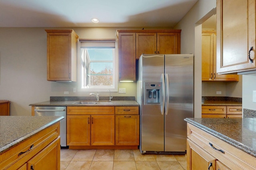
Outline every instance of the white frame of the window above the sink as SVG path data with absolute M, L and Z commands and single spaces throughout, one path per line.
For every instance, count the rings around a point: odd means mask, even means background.
M 82 57 L 81 57 L 81 47 L 110 47 L 114 43 L 114 59 L 113 59 L 113 86 L 93 86 L 90 88 L 83 88 L 82 84 L 84 82 L 84 74 L 82 68 Z M 110 46 L 108 46 L 110 45 Z M 77 60 L 77 91 L 78 92 L 106 92 L 110 89 L 111 92 L 118 91 L 118 48 L 115 39 L 79 39 L 78 41 L 78 60 Z

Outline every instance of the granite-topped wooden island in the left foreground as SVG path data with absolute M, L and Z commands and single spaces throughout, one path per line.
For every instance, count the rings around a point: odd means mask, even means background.
M 59 136 L 63 118 L 0 116 L 1 169 L 60 169 Z

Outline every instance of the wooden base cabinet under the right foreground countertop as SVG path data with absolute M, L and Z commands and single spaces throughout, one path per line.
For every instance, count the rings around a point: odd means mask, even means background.
M 256 158 L 187 123 L 187 170 L 253 170 Z

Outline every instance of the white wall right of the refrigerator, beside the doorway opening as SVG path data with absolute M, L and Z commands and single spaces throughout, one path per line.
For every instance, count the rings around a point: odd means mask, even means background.
M 174 27 L 182 29 L 181 53 L 194 54 L 194 117 L 201 117 L 202 106 L 202 23 L 214 14 L 216 0 L 198 0 L 186 16 Z

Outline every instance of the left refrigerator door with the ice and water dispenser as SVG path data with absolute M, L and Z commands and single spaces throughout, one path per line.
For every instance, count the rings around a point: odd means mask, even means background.
M 164 114 L 162 114 L 162 73 L 164 72 L 164 55 L 142 55 L 139 61 L 139 82 L 141 81 L 141 102 L 140 102 L 140 149 L 141 151 L 164 151 Z M 155 83 L 154 83 L 155 82 Z M 145 87 L 144 85 L 147 85 Z M 152 86 L 150 85 L 152 84 Z M 147 88 L 154 88 L 158 84 L 158 104 L 146 102 L 146 98 L 154 98 L 154 91 Z M 150 94 L 145 94 L 145 92 Z

